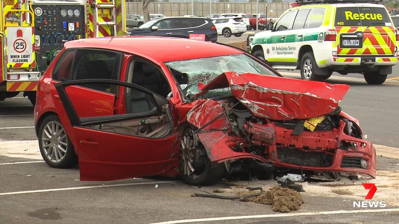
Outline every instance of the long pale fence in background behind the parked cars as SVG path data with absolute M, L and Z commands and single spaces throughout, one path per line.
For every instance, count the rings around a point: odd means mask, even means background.
M 259 3 L 259 13 L 271 17 L 279 17 L 289 8 L 288 3 Z M 150 14 L 164 14 L 165 16 L 209 15 L 209 2 L 150 2 Z M 256 3 L 246 2 L 214 2 L 212 14 L 216 13 L 256 13 Z M 126 2 L 127 14 L 143 14 L 141 2 Z

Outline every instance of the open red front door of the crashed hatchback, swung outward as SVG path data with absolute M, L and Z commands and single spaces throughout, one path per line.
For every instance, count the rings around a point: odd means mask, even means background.
M 73 102 L 68 91 L 77 85 L 124 89 L 126 96 L 130 96 L 123 100 L 127 112 L 107 116 L 79 115 L 76 110 L 79 102 Z M 178 134 L 168 116 L 172 114 L 169 102 L 163 96 L 137 84 L 107 79 L 68 81 L 54 86 L 72 127 L 70 140 L 79 152 L 82 181 L 152 176 L 169 171 L 177 163 L 174 157 L 178 153 Z M 91 98 L 102 100 L 95 95 Z

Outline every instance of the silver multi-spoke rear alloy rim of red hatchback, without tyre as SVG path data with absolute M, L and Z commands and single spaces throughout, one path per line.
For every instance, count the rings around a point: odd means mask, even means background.
M 65 130 L 59 122 L 47 122 L 41 133 L 41 145 L 47 159 L 59 163 L 65 157 L 68 146 L 67 138 Z

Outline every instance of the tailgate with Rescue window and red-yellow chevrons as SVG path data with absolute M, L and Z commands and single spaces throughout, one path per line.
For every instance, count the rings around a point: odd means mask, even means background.
M 334 22 L 338 55 L 394 55 L 395 27 L 384 7 L 343 6 L 336 8 Z

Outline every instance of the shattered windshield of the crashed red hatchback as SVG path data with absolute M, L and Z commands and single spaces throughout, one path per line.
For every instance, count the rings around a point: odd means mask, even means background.
M 267 67 L 245 54 L 170 61 L 165 63 L 165 65 L 171 69 L 183 93 L 190 99 L 193 99 L 195 94 L 199 92 L 198 83 L 208 84 L 224 72 L 277 76 Z M 226 96 L 231 96 L 230 88 L 209 90 L 203 95 L 204 98 L 222 98 Z

